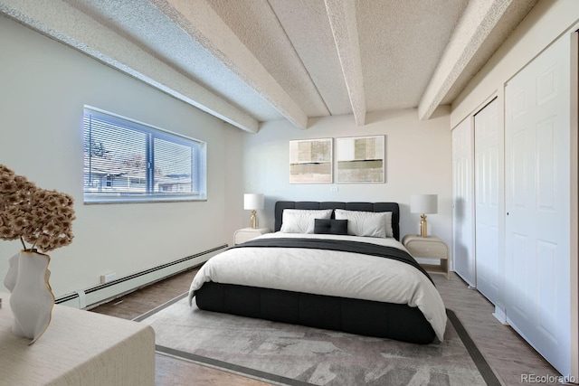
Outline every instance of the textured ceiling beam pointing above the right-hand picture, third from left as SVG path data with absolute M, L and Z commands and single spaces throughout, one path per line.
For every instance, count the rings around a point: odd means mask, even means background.
M 356 125 L 364 126 L 365 89 L 356 25 L 356 3 L 348 0 L 325 0 L 325 3 Z

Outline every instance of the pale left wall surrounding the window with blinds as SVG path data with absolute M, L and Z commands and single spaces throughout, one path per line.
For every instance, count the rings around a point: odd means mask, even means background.
M 231 242 L 226 181 L 242 168 L 228 141 L 239 129 L 2 16 L 0 52 L 0 164 L 75 199 L 75 238 L 50 253 L 56 297 Z M 84 205 L 85 104 L 206 141 L 207 201 Z M 19 249 L 0 242 L 0 278 Z

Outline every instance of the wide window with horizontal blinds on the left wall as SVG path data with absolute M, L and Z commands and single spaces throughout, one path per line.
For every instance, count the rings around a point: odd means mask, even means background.
M 206 144 L 84 108 L 84 202 L 206 199 Z

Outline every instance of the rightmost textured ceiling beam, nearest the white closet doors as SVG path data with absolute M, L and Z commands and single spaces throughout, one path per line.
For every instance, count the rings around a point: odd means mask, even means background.
M 513 0 L 470 1 L 451 41 L 442 53 L 431 81 L 418 104 L 418 118 L 428 119 L 441 104 L 482 43 Z

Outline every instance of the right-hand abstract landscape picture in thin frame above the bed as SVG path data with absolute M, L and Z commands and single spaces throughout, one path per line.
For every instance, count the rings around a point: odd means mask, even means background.
M 336 183 L 384 183 L 385 155 L 385 136 L 336 138 Z

